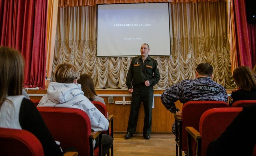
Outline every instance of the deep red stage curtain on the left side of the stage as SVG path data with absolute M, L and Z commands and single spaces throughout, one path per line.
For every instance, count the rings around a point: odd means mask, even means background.
M 25 59 L 23 87 L 44 89 L 47 0 L 0 0 L 0 45 Z

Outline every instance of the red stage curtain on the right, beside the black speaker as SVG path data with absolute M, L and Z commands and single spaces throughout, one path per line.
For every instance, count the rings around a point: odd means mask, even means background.
M 256 24 L 247 23 L 245 0 L 234 0 L 238 66 L 256 64 Z

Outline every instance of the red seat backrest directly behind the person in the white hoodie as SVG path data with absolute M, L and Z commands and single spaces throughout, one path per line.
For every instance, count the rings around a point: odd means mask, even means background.
M 74 147 L 80 156 L 90 155 L 91 121 L 81 109 L 37 107 L 54 140 L 60 147 Z

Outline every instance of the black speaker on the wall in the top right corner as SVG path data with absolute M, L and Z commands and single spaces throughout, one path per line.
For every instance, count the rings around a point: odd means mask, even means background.
M 245 0 L 248 23 L 256 23 L 256 0 Z

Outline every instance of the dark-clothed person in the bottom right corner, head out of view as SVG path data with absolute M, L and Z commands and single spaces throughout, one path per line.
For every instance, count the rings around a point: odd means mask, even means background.
M 256 105 L 244 107 L 219 138 L 212 141 L 206 156 L 252 156 L 256 145 Z

